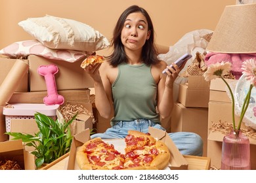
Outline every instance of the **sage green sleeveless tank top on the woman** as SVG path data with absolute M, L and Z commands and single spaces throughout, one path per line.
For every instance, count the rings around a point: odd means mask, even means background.
M 116 81 L 112 84 L 114 99 L 114 118 L 117 121 L 133 121 L 136 119 L 152 120 L 160 124 L 156 112 L 157 85 L 151 74 L 151 67 L 141 65 L 118 66 Z

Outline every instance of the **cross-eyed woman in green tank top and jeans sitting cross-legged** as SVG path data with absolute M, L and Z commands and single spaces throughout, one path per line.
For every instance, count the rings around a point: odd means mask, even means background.
M 130 129 L 148 132 L 161 127 L 160 116 L 167 118 L 173 109 L 173 82 L 181 69 L 167 66 L 157 57 L 154 27 L 148 12 L 133 5 L 117 20 L 111 45 L 114 51 L 102 64 L 85 71 L 94 80 L 95 105 L 104 118 L 114 118 L 105 133 L 91 138 L 125 138 Z M 162 71 L 166 70 L 167 75 Z M 165 129 L 163 129 L 165 130 Z M 169 133 L 182 154 L 202 156 L 202 139 L 195 133 Z

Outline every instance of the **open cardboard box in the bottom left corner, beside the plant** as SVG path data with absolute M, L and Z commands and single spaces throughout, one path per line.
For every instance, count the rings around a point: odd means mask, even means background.
M 26 169 L 22 140 L 0 142 L 0 159 L 16 161 L 23 170 Z

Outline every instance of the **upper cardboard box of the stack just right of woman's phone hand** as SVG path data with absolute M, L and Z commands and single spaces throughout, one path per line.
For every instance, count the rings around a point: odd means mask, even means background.
M 179 86 L 179 99 L 185 107 L 208 107 L 209 82 L 203 76 L 188 76 L 186 84 Z

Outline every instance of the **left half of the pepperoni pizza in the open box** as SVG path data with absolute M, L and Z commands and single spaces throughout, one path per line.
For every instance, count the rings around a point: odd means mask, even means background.
M 77 150 L 77 165 L 82 170 L 114 170 L 123 169 L 125 158 L 115 150 L 113 144 L 102 139 L 91 139 Z

